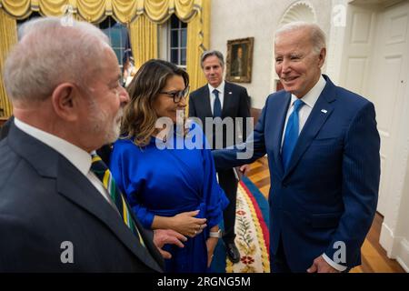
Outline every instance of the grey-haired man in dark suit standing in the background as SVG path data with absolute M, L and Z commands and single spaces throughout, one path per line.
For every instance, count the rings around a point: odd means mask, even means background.
M 243 86 L 224 81 L 222 53 L 215 50 L 206 51 L 201 57 L 201 65 L 208 84 L 190 95 L 189 116 L 200 118 L 205 127 L 205 135 L 209 143 L 213 145 L 212 148 L 233 146 L 235 143 L 243 142 L 248 132 L 246 118 L 250 117 L 250 100 L 247 90 Z M 209 120 L 215 117 L 221 119 L 214 119 L 214 123 L 209 123 Z M 236 124 L 236 117 L 243 119 Z M 206 118 L 211 119 L 207 119 L 206 123 Z M 230 130 L 227 129 L 227 126 L 222 125 L 222 121 L 226 121 L 226 118 L 232 118 L 231 125 L 233 126 Z M 237 263 L 240 260 L 240 253 L 234 244 L 234 222 L 238 181 L 232 169 L 220 170 L 217 176 L 220 186 L 230 201 L 223 213 L 224 245 L 229 259 Z

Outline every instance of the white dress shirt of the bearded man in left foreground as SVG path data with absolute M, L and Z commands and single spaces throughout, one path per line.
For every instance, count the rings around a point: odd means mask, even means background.
M 80 171 L 86 178 L 95 186 L 99 193 L 104 196 L 105 200 L 113 206 L 111 198 L 108 192 L 103 186 L 101 180 L 91 171 L 92 158 L 91 154 L 85 152 L 85 150 L 68 143 L 66 140 L 46 133 L 45 131 L 38 129 L 32 125 L 27 125 L 23 121 L 15 117 L 15 126 L 20 130 L 24 131 L 25 134 L 33 136 L 40 142 L 47 146 L 53 148 L 60 155 L 65 156 L 65 158 L 75 166 L 78 171 Z M 113 206 L 114 207 L 114 206 Z M 116 206 L 114 207 L 116 210 Z

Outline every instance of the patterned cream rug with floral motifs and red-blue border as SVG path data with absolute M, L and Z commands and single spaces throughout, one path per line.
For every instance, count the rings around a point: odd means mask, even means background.
M 214 250 L 211 272 L 214 273 L 268 273 L 268 202 L 246 177 L 237 189 L 235 215 L 235 245 L 240 251 L 240 262 L 232 264 L 226 257 L 223 239 Z M 223 224 L 223 223 L 222 223 Z M 223 225 L 221 226 L 223 228 Z

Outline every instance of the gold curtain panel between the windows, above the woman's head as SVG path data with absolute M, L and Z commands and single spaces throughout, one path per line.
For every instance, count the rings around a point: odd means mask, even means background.
M 135 67 L 157 58 L 157 25 L 145 15 L 140 15 L 129 25 L 129 38 L 134 52 Z

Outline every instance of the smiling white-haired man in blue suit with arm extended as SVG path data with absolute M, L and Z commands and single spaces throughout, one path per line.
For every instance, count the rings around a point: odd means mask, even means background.
M 267 97 L 247 140 L 254 156 L 237 159 L 237 148 L 214 151 L 215 166 L 268 155 L 273 272 L 349 271 L 361 264 L 377 204 L 374 105 L 321 74 L 326 48 L 318 25 L 284 25 L 276 32 L 274 54 L 284 90 Z

